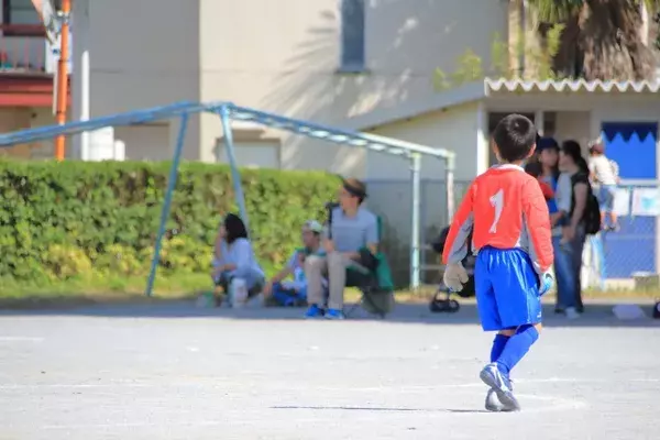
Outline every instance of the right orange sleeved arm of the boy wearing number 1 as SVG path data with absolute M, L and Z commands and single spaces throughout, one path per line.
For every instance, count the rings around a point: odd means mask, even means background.
M 554 260 L 550 213 L 541 188 L 535 182 L 527 183 L 522 188 L 522 216 L 529 233 L 531 261 L 538 273 L 546 273 Z

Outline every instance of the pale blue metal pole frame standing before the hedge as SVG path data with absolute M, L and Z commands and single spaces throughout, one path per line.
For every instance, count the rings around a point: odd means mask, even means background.
M 178 167 L 188 130 L 188 119 L 191 113 L 209 112 L 217 114 L 224 132 L 224 146 L 229 161 L 232 185 L 234 188 L 235 201 L 239 206 L 240 215 L 248 228 L 249 217 L 245 209 L 245 199 L 243 187 L 241 185 L 241 175 L 239 164 L 235 158 L 233 142 L 232 121 L 244 121 L 261 124 L 302 135 L 306 138 L 318 139 L 329 143 L 349 145 L 367 151 L 374 151 L 398 157 L 407 157 L 410 161 L 411 179 L 411 206 L 410 206 L 410 288 L 418 288 L 420 285 L 420 254 L 421 254 L 421 160 L 424 156 L 433 157 L 444 162 L 444 178 L 447 187 L 447 211 L 448 218 L 453 217 L 454 212 L 454 164 L 455 153 L 446 148 L 438 148 L 428 145 L 420 145 L 411 142 L 400 141 L 392 138 L 385 138 L 371 133 L 362 133 L 339 128 L 326 127 L 309 121 L 287 118 L 280 114 L 255 110 L 246 107 L 235 106 L 231 102 L 178 102 L 170 106 L 156 107 L 145 110 L 135 110 L 125 113 L 119 113 L 110 117 L 95 118 L 87 121 L 69 122 L 63 125 L 48 125 L 37 129 L 22 130 L 13 133 L 0 135 L 0 147 L 8 147 L 19 143 L 28 143 L 52 139 L 58 135 L 73 135 L 88 131 L 103 129 L 106 127 L 132 125 L 147 123 L 164 119 L 180 119 L 177 133 L 165 200 L 161 211 L 161 220 L 154 245 L 154 255 L 152 258 L 150 275 L 147 279 L 146 296 L 151 296 L 155 283 L 158 263 L 161 261 L 162 241 L 165 234 L 167 219 L 172 207 L 172 197 L 176 188 L 178 177 Z

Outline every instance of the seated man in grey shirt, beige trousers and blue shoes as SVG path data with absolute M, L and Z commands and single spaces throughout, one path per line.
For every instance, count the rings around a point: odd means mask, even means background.
M 343 319 L 343 290 L 346 267 L 359 265 L 360 249 L 373 254 L 378 248 L 378 221 L 376 216 L 362 206 L 366 198 L 364 183 L 349 178 L 338 194 L 339 207 L 332 209 L 332 221 L 323 240 L 326 255 L 310 255 L 305 261 L 307 277 L 306 318 L 326 317 Z M 324 310 L 323 277 L 327 275 L 330 295 Z

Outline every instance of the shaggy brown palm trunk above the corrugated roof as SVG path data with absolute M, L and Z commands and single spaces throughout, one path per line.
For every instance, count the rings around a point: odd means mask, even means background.
M 554 58 L 558 74 L 587 80 L 656 77 L 659 66 L 656 37 L 648 38 L 640 30 L 645 29 L 642 7 L 646 6 L 648 21 L 654 26 L 660 0 L 528 0 L 528 3 L 546 26 L 565 25 Z

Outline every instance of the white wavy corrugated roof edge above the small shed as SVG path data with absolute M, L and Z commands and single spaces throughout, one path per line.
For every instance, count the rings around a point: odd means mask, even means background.
M 562 80 L 524 80 L 493 79 L 484 81 L 488 92 L 619 92 L 619 94 L 657 94 L 660 81 L 586 81 L 584 79 Z

